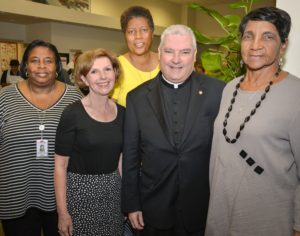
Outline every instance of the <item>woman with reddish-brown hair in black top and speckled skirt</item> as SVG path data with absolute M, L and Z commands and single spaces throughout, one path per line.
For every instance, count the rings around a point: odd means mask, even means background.
M 89 94 L 61 117 L 55 148 L 55 192 L 61 235 L 122 234 L 120 208 L 124 109 L 109 98 L 119 75 L 104 49 L 83 53 L 75 78 Z

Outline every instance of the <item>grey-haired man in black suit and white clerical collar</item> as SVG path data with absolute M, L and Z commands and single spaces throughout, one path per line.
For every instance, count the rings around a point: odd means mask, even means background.
M 204 235 L 209 157 L 224 83 L 194 71 L 192 30 L 161 35 L 161 72 L 127 96 L 122 210 L 141 236 Z

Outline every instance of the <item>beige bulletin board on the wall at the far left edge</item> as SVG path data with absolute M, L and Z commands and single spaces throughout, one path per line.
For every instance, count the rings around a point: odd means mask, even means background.
M 9 68 L 11 59 L 18 58 L 17 43 L 0 42 L 0 72 Z

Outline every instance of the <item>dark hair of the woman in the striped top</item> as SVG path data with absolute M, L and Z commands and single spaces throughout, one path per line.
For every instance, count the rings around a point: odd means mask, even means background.
M 20 72 L 21 72 L 21 76 L 22 78 L 26 79 L 26 72 L 27 72 L 27 64 L 28 64 L 28 58 L 29 55 L 31 53 L 31 51 L 36 48 L 36 47 L 45 47 L 48 48 L 50 51 L 52 51 L 54 53 L 54 58 L 55 58 L 55 66 L 56 66 L 56 73 L 59 75 L 61 70 L 62 70 L 62 64 L 61 64 L 61 60 L 60 60 L 60 56 L 58 53 L 57 48 L 48 42 L 45 42 L 43 40 L 33 40 L 26 48 L 24 54 L 23 54 L 23 58 L 22 58 L 22 62 L 20 65 Z

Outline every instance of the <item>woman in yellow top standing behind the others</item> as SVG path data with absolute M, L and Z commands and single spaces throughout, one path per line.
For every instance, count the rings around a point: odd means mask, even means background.
M 128 52 L 118 57 L 122 73 L 112 98 L 125 107 L 127 93 L 158 74 L 159 61 L 157 53 L 151 51 L 154 23 L 150 11 L 130 7 L 122 13 L 120 22 Z

